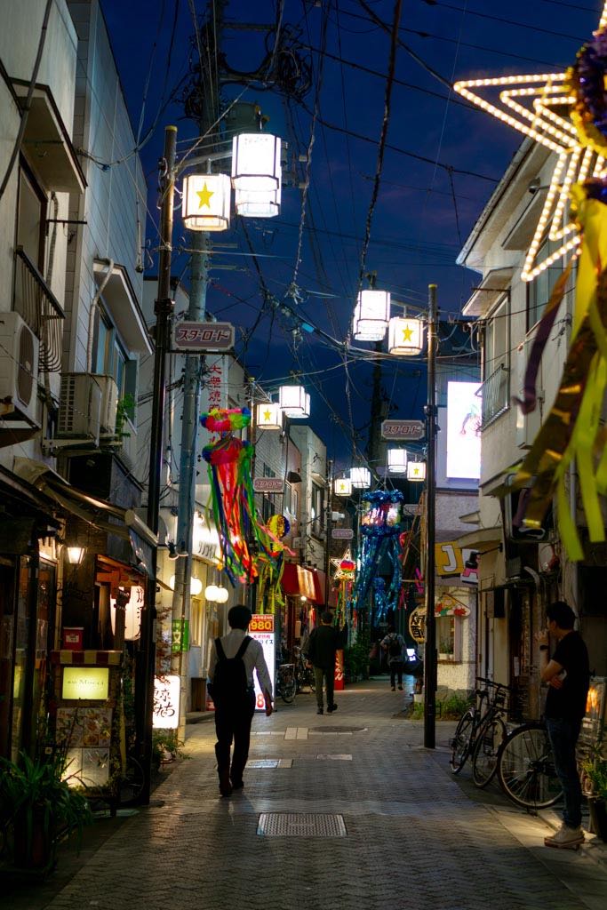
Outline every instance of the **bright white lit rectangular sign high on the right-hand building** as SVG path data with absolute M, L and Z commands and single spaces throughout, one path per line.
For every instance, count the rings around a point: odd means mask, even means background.
M 447 477 L 481 477 L 481 398 L 478 382 L 447 383 Z

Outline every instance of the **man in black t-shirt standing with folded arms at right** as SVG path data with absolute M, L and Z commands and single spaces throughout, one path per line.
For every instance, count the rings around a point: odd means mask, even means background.
M 582 844 L 582 786 L 575 762 L 575 744 L 586 713 L 590 684 L 588 650 L 579 632 L 573 631 L 575 613 L 568 603 L 556 601 L 546 611 L 548 628 L 538 636 L 541 681 L 549 685 L 544 715 L 554 767 L 565 800 L 561 828 L 544 838 L 549 847 Z M 549 633 L 557 646 L 549 660 Z

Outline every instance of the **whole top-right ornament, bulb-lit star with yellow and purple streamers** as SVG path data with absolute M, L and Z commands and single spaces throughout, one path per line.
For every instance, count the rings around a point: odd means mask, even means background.
M 521 274 L 531 280 L 568 251 L 579 253 L 572 340 L 560 388 L 521 467 L 509 486 L 530 488 L 523 524 L 539 528 L 556 493 L 561 539 L 572 561 L 583 557 L 565 489 L 565 474 L 576 460 L 591 542 L 605 540 L 600 495 L 607 492 L 607 449 L 600 424 L 607 388 L 607 3 L 598 30 L 565 73 L 508 76 L 460 82 L 461 95 L 557 154 L 551 186 Z M 498 103 L 484 94 L 501 88 Z M 474 91 L 472 91 L 474 89 Z M 512 111 L 512 116 L 509 111 Z M 572 197 L 572 206 L 568 200 Z M 568 215 L 568 209 L 569 215 Z M 560 241 L 550 256 L 537 254 L 549 227 Z M 520 402 L 536 406 L 535 379 L 541 354 L 571 271 L 555 285 L 531 348 Z

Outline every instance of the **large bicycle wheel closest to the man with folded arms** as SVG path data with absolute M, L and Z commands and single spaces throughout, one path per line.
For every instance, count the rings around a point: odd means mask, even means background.
M 524 809 L 543 809 L 561 796 L 551 744 L 543 723 L 523 723 L 501 746 L 498 779 L 503 792 Z

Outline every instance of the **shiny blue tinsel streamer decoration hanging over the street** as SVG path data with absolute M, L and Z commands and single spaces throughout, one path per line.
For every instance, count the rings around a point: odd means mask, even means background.
M 386 587 L 376 586 L 371 606 L 376 619 L 382 619 L 387 612 L 395 610 L 400 593 L 400 521 L 403 495 L 399 490 L 376 490 L 363 493 L 363 513 L 360 519 L 362 547 L 360 570 L 354 585 L 353 600 L 360 606 L 365 602 L 371 585 L 379 580 L 379 563 L 387 559 L 391 566 L 391 578 Z M 379 581 L 384 581 L 380 579 Z

